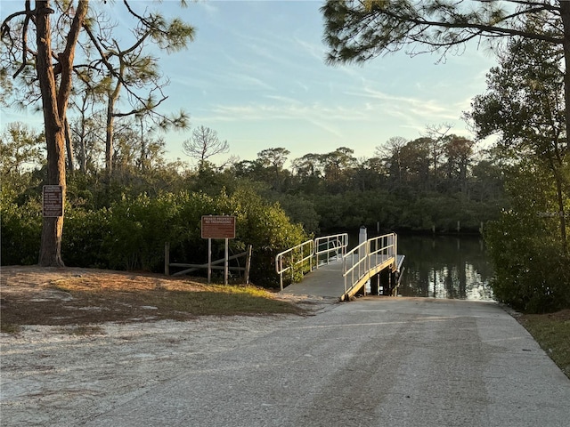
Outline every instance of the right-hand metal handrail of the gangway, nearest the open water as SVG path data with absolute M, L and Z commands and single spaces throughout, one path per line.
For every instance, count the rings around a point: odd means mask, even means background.
M 380 262 L 390 257 L 394 257 L 394 262 L 396 262 L 397 241 L 395 233 L 370 238 L 354 247 L 343 257 L 342 275 L 345 278 L 345 295 Z

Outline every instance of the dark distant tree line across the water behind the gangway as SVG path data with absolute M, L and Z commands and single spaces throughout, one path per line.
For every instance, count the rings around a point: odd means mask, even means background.
M 390 138 L 376 157 L 354 157 L 340 147 L 310 153 L 283 167 L 289 151 L 265 149 L 253 161 L 224 171 L 263 184 L 306 230 L 358 229 L 476 232 L 504 205 L 502 173 L 491 156 L 476 155 L 473 142 L 454 134 L 407 141 Z M 310 217 L 306 215 L 310 214 Z

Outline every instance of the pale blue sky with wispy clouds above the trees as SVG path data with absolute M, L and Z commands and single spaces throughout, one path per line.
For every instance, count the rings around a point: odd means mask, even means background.
M 3 0 L 0 18 L 22 3 Z M 271 148 L 288 149 L 289 161 L 339 147 L 369 158 L 390 137 L 413 140 L 427 125 L 444 123 L 472 138 L 461 115 L 485 93 L 485 74 L 496 65 L 475 44 L 444 62 L 435 54 L 395 52 L 362 65 L 327 65 L 322 1 L 199 0 L 187 8 L 175 0 L 132 3 L 141 11 L 160 8 L 196 28 L 187 50 L 157 52 L 170 79 L 161 109 L 184 109 L 191 129 L 208 126 L 228 141 L 230 152 L 212 157 L 214 163 L 230 156 L 254 160 Z M 1 128 L 16 120 L 41 126 L 41 114 L 32 109 L 1 114 Z M 191 160 L 182 149 L 191 129 L 163 135 L 167 158 Z

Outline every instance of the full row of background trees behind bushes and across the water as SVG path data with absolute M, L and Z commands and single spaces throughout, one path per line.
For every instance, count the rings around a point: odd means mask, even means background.
M 340 147 L 292 159 L 289 167 L 289 150 L 284 148 L 264 149 L 253 160 L 231 157 L 223 165 L 215 165 L 206 153 L 210 142 L 212 149 L 219 149 L 217 134 L 199 126 L 192 135 L 193 141 L 199 141 L 194 146 L 200 148 L 188 150 L 196 160 L 191 166 L 182 161 L 168 162 L 163 139 L 156 139 L 152 133 L 141 137 L 135 124 L 125 121 L 114 136 L 118 141 L 114 180 L 104 180 L 102 144 L 97 143 L 97 133 L 90 133 L 94 138 L 85 150 L 87 167 L 69 172 L 71 204 L 80 196 L 82 203 L 97 209 L 108 207 L 122 194 L 190 190 L 215 195 L 222 189 L 231 193 L 246 185 L 279 202 L 292 221 L 302 223 L 307 232 L 320 234 L 362 225 L 375 229 L 377 222 L 382 230 L 423 232 L 435 227 L 436 232 L 456 232 L 460 221 L 461 230 L 476 232 L 481 222 L 497 217 L 505 202 L 501 165 L 493 160 L 493 154 L 476 152 L 473 141 L 449 133 L 449 126 L 429 128 L 436 137 L 412 141 L 390 138 L 376 147 L 376 157 L 359 159 L 353 149 Z M 198 133 L 201 140 L 196 138 Z M 6 150 L 4 182 L 18 187 L 16 182 L 25 181 L 24 176 L 31 174 L 37 181 L 28 181 L 29 185 L 44 184 L 41 136 L 14 123 L 2 138 Z M 184 146 L 190 147 L 191 141 Z M 227 151 L 227 142 L 224 144 Z M 23 157 L 26 155 L 27 159 Z

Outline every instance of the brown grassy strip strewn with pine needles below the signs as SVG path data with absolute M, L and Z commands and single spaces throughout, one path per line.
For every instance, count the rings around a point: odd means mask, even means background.
M 21 294 L 6 294 L 5 299 L 2 320 L 6 331 L 15 331 L 19 325 L 74 326 L 64 331 L 69 334 L 99 334 L 93 325 L 102 322 L 306 312 L 256 286 L 207 285 L 188 278 L 111 272 L 53 279 L 22 288 Z

